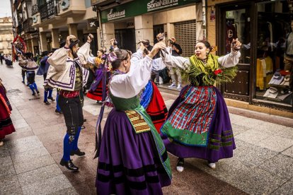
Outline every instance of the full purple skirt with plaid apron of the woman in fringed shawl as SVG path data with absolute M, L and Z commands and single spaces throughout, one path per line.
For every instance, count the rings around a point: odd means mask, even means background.
M 226 103 L 213 86 L 185 86 L 169 110 L 161 137 L 168 152 L 179 158 L 217 162 L 231 158 L 236 148 Z

